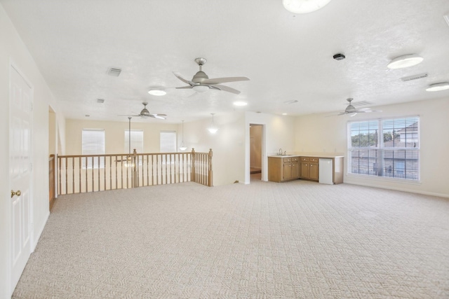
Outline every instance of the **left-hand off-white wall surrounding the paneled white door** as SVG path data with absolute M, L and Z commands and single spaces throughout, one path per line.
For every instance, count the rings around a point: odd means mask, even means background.
M 34 248 L 47 221 L 48 211 L 48 106 L 56 112 L 58 127 L 64 127 L 64 116 L 41 76 L 33 57 L 13 27 L 0 4 L 0 298 L 11 296 L 11 188 L 9 183 L 9 71 L 13 64 L 33 89 L 32 120 L 32 246 Z M 64 136 L 60 139 L 64 142 Z

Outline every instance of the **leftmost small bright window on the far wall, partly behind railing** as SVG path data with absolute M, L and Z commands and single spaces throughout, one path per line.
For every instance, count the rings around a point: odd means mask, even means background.
M 82 132 L 82 148 L 83 155 L 104 155 L 105 154 L 105 130 L 102 129 L 83 129 Z M 87 160 L 87 163 L 86 163 Z M 83 159 L 83 169 L 105 167 L 105 157 L 100 157 L 100 165 L 98 158 Z M 93 165 L 92 165 L 93 163 Z

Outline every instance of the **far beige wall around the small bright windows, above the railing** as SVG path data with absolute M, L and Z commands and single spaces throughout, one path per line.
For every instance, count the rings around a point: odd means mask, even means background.
M 99 120 L 67 119 L 65 135 L 67 136 L 67 155 L 81 155 L 81 132 L 83 129 L 105 130 L 105 151 L 111 153 L 128 153 L 125 151 L 125 131 L 129 123 Z M 159 153 L 159 135 L 161 131 L 177 131 L 178 125 L 163 123 L 134 123 L 131 119 L 131 130 L 143 130 L 143 146 L 145 153 Z M 131 148 L 133 151 L 133 148 Z

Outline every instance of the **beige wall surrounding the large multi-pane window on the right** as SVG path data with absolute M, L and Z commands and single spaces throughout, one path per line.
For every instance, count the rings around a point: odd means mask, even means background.
M 298 152 L 344 153 L 347 157 L 347 122 L 403 116 L 420 116 L 420 183 L 398 182 L 388 179 L 361 178 L 347 175 L 345 159 L 344 183 L 375 186 L 415 193 L 449 197 L 449 98 L 378 106 L 382 113 L 360 113 L 326 117 L 310 115 L 297 117 L 295 148 Z

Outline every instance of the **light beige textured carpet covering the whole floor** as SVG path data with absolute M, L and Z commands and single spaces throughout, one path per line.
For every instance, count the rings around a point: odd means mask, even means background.
M 65 195 L 13 298 L 449 298 L 449 200 L 258 180 Z

